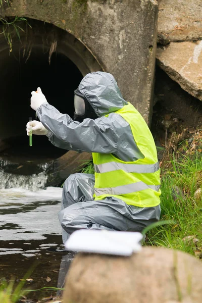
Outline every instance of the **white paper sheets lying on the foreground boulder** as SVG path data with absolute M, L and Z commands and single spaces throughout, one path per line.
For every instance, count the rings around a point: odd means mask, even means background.
M 87 230 L 73 232 L 65 243 L 65 249 L 118 256 L 131 256 L 141 250 L 139 232 Z

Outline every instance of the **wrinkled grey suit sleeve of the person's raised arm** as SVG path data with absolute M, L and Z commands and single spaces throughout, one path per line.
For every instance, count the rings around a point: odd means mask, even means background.
M 49 140 L 57 147 L 88 153 L 116 154 L 116 131 L 108 117 L 84 119 L 79 123 L 49 104 L 42 104 L 37 110 L 37 116 L 52 133 Z

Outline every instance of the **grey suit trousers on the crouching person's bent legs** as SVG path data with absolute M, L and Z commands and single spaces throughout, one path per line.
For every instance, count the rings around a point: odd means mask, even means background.
M 72 232 L 81 228 L 141 232 L 160 219 L 160 206 L 140 208 L 115 197 L 93 200 L 93 186 L 91 174 L 75 174 L 66 180 L 59 213 L 64 243 Z

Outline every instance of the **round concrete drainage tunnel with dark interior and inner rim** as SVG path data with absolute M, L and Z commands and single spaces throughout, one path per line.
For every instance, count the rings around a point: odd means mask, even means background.
M 80 158 L 89 156 L 70 152 L 68 157 L 67 150 L 55 147 L 44 136 L 33 136 L 33 145 L 29 146 L 26 123 L 29 117 L 35 120 L 31 91 L 40 86 L 49 104 L 73 117 L 74 90 L 85 74 L 101 69 L 85 46 L 68 32 L 36 20 L 29 20 L 29 24 L 31 29 L 28 34 L 22 33 L 21 42 L 14 40 L 12 52 L 7 41 L 1 40 L 0 166 L 8 173 L 30 175 L 40 173 L 45 163 L 54 163 L 55 171 L 52 167 L 46 185 L 59 185 Z M 65 162 L 76 162 L 73 166 L 66 163 L 64 175 L 58 177 L 61 157 Z

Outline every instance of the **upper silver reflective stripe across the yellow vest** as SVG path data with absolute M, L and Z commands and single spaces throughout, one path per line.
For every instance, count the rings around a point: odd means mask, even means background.
M 155 164 L 128 164 L 118 162 L 94 164 L 96 173 L 108 173 L 120 169 L 127 173 L 155 173 L 159 170 L 159 162 Z

